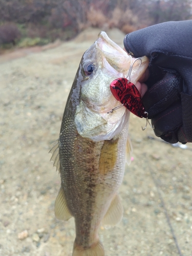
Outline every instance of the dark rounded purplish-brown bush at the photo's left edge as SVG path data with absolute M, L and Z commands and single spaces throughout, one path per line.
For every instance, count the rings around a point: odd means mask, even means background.
M 0 26 L 0 44 L 15 45 L 15 40 L 20 37 L 20 32 L 16 25 L 7 23 Z

